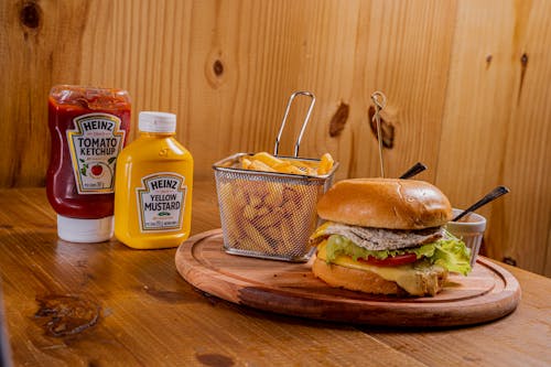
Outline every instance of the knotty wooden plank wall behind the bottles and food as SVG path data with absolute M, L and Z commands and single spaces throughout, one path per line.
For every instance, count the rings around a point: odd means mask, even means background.
M 128 89 L 132 139 L 138 111 L 177 114 L 198 179 L 230 153 L 271 151 L 298 89 L 317 97 L 301 155 L 331 152 L 338 179 L 377 176 L 369 108 L 382 90 L 387 176 L 422 161 L 419 177 L 457 207 L 507 185 L 479 211 L 486 253 L 551 276 L 549 15 L 547 0 L 6 0 L 0 186 L 44 185 L 55 84 Z

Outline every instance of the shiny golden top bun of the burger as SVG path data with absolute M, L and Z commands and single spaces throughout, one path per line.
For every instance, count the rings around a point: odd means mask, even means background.
M 317 203 L 320 217 L 347 225 L 422 229 L 452 219 L 447 197 L 424 181 L 352 179 L 337 182 Z

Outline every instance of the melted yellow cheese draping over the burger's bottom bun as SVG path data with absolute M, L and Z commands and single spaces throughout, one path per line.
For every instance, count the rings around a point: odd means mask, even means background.
M 327 260 L 326 241 L 317 246 L 317 258 Z M 440 266 L 419 266 L 415 262 L 398 267 L 377 267 L 369 263 L 355 261 L 346 255 L 341 255 L 332 261 L 337 266 L 371 271 L 388 281 L 398 283 L 408 293 L 413 295 L 435 294 L 439 287 L 439 276 L 446 273 L 446 270 Z

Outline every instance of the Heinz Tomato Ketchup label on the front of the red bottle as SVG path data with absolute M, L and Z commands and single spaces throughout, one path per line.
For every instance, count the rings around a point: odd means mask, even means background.
M 109 114 L 88 114 L 73 121 L 75 129 L 67 130 L 67 143 L 78 193 L 115 192 L 115 165 L 125 141 L 120 119 Z

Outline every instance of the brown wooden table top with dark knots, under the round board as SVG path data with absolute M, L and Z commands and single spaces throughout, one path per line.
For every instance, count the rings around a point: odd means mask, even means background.
M 0 190 L 0 278 L 15 366 L 551 364 L 551 280 L 503 263 L 522 299 L 501 320 L 437 331 L 329 323 L 204 294 L 177 273 L 176 249 L 62 241 L 43 188 Z M 193 234 L 218 227 L 214 182 L 196 182 Z M 60 322 L 54 309 L 71 317 Z M 75 327 L 83 320 L 91 326 Z

